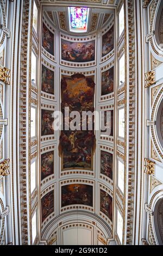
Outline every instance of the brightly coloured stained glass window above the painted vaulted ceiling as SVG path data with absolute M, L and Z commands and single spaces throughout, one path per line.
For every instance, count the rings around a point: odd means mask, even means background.
M 71 32 L 87 32 L 89 8 L 68 7 L 68 15 Z

